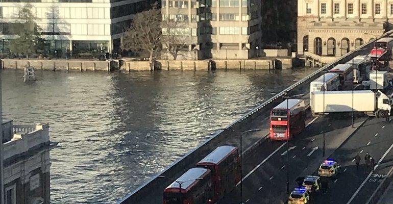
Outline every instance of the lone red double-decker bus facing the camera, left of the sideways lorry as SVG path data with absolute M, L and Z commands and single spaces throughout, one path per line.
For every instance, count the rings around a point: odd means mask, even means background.
M 289 140 L 306 126 L 306 106 L 302 99 L 286 99 L 270 114 L 270 139 Z

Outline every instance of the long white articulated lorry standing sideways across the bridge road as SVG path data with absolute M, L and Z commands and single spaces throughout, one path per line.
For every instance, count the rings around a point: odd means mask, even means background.
M 387 117 L 390 115 L 391 100 L 381 91 L 314 91 L 310 101 L 314 115 L 329 113 L 363 112 L 369 116 Z M 353 107 L 353 109 L 352 109 Z

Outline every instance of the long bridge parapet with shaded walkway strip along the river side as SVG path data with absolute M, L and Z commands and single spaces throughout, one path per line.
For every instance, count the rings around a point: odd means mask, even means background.
M 393 31 L 383 34 L 383 36 L 390 35 L 390 33 L 393 33 Z M 262 103 L 261 105 L 254 108 L 247 114 L 243 115 L 238 120 L 228 125 L 226 127 L 227 130 L 219 131 L 217 134 L 215 134 L 214 136 L 212 136 L 211 138 L 200 144 L 198 147 L 195 147 L 193 150 L 188 152 L 177 162 L 171 164 L 169 167 L 164 169 L 161 173 L 153 177 L 153 179 L 151 179 L 149 182 L 143 184 L 135 191 L 133 191 L 131 194 L 129 194 L 122 200 L 118 201 L 118 203 L 135 204 L 138 203 L 141 199 L 145 198 L 146 196 L 149 196 L 150 193 L 152 192 L 152 189 L 165 188 L 167 185 L 169 185 L 170 181 L 165 179 L 164 180 L 160 179 L 158 178 L 158 176 L 163 175 L 169 178 L 169 177 L 177 177 L 179 173 L 184 173 L 189 168 L 190 165 L 194 165 L 196 161 L 199 161 L 204 156 L 206 156 L 210 151 L 212 151 L 217 146 L 217 144 L 226 140 L 226 138 L 231 134 L 228 130 L 230 131 L 242 130 L 244 124 L 249 123 L 250 121 L 255 119 L 258 115 L 262 113 L 266 113 L 266 111 L 267 112 L 270 111 L 272 108 L 274 108 L 279 103 L 284 101 L 284 98 L 282 96 L 284 96 L 285 94 L 292 95 L 294 93 L 297 93 L 297 91 L 299 92 L 300 90 L 306 88 L 306 86 L 309 86 L 309 83 L 311 81 L 315 80 L 317 77 L 320 77 L 323 71 L 329 70 L 337 64 L 348 62 L 353 57 L 359 55 L 359 50 L 361 49 L 364 48 L 371 49 L 374 45 L 374 41 L 375 40 L 372 40 L 367 44 L 358 47 L 357 50 L 355 50 L 354 52 L 350 52 L 340 57 L 336 61 L 327 64 L 326 66 L 316 70 L 315 72 L 311 73 L 310 75 L 300 80 L 299 82 L 289 86 L 288 88 L 281 91 L 277 95 L 265 100 L 264 103 Z

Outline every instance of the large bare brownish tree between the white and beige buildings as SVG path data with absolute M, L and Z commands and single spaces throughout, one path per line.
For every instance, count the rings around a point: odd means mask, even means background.
M 122 49 L 136 53 L 149 52 L 150 60 L 161 47 L 161 12 L 157 3 L 147 11 L 137 13 L 130 28 L 122 36 Z

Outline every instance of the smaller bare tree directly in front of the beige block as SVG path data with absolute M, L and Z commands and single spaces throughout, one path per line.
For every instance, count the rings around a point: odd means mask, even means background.
M 165 28 L 165 33 L 162 35 L 162 44 L 166 48 L 174 60 L 177 59 L 180 52 L 186 49 L 188 50 L 188 38 L 191 33 L 191 29 L 187 28 L 187 24 L 183 22 L 174 21 L 163 21 L 162 27 Z M 189 50 L 188 50 L 189 51 Z

